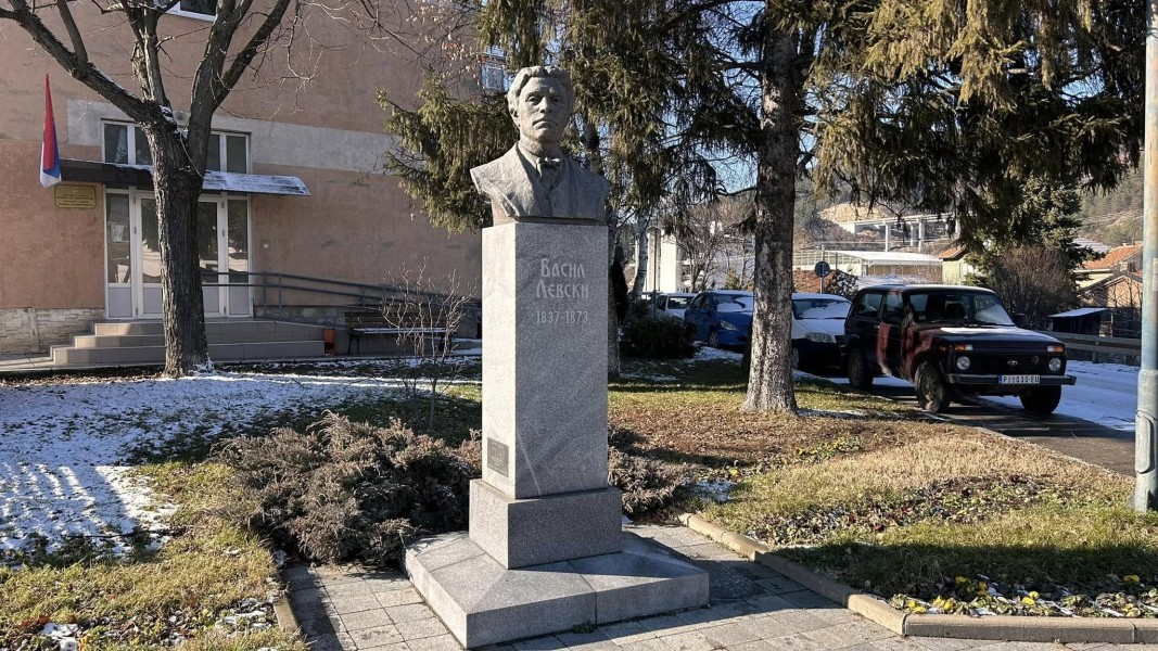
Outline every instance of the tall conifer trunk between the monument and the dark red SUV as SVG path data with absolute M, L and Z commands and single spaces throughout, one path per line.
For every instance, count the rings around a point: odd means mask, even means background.
M 770 2 L 769 2 L 770 3 Z M 771 12 L 769 7 L 769 12 Z M 802 80 L 797 37 L 765 27 L 756 168 L 755 309 L 746 411 L 792 411 L 792 219 Z

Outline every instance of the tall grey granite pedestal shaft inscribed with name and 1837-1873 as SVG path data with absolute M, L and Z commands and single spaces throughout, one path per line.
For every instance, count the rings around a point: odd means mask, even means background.
M 483 481 L 607 488 L 607 227 L 483 231 Z

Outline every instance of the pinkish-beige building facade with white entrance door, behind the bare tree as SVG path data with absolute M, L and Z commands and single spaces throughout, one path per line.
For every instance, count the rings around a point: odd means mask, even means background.
M 74 6 L 91 60 L 123 87 L 138 88 L 129 74 L 127 28 L 90 5 Z M 167 90 L 178 123 L 189 109 L 189 80 L 208 19 L 186 13 L 161 22 L 174 36 L 166 46 Z M 262 316 L 276 300 L 273 291 L 252 285 L 272 287 L 290 277 L 393 285 L 422 268 L 435 284 L 453 273 L 461 286 L 477 287 L 478 235 L 432 228 L 397 180 L 380 173 L 391 140 L 375 94 L 412 102 L 425 61 L 415 50 L 373 46 L 324 16 L 308 16 L 306 27 L 308 39 L 274 49 L 213 120 L 210 169 L 218 174 L 207 175 L 215 182 L 207 181 L 198 212 L 203 278 L 218 281 L 206 288 L 206 316 Z M 3 28 L 0 353 L 46 351 L 102 320 L 159 319 L 155 204 L 147 168 L 140 167 L 148 163 L 144 139 L 24 32 Z M 49 189 L 37 174 L 45 74 L 64 161 L 63 183 Z M 299 316 L 320 315 L 310 308 L 347 298 L 280 294 L 281 307 Z

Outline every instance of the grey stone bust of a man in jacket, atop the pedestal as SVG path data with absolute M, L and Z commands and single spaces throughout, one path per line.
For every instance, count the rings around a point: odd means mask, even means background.
M 520 218 L 606 220 L 607 180 L 560 148 L 574 108 L 571 76 L 554 66 L 522 68 L 507 92 L 519 141 L 498 159 L 470 170 L 491 200 L 494 224 Z

